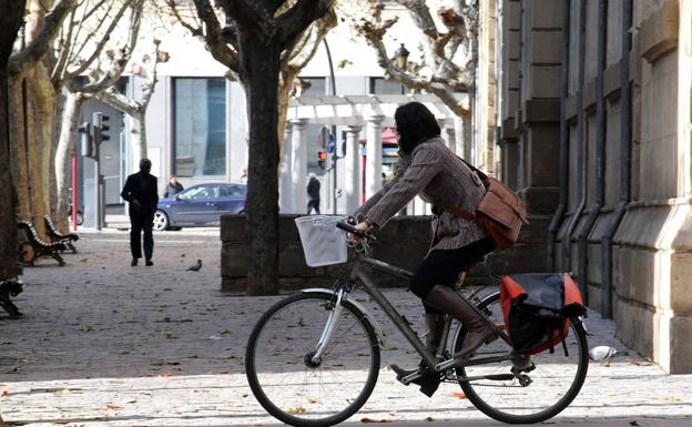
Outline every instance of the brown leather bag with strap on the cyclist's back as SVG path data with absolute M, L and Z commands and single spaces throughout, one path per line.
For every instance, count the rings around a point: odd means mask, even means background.
M 475 212 L 459 206 L 441 206 L 445 211 L 472 221 L 480 225 L 495 242 L 498 250 L 512 246 L 519 238 L 522 224 L 528 224 L 523 201 L 509 187 L 498 180 L 459 157 L 471 171 L 475 171 L 486 187 L 486 195 L 481 199 Z

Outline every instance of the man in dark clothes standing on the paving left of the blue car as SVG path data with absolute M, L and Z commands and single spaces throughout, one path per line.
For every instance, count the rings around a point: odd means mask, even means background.
M 140 161 L 140 172 L 128 176 L 125 186 L 120 195 L 130 203 L 130 251 L 132 252 L 132 263 L 138 265 L 142 257 L 141 235 L 144 232 L 144 257 L 146 265 L 154 265 L 152 255 L 154 253 L 154 212 L 159 203 L 159 192 L 156 176 L 151 173 L 151 160 Z

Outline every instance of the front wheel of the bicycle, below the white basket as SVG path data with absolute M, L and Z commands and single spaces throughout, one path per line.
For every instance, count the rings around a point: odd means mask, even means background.
M 322 427 L 354 415 L 373 393 L 379 345 L 365 313 L 349 302 L 326 352 L 313 360 L 335 301 L 299 293 L 269 308 L 247 343 L 245 372 L 253 394 L 274 417 L 293 426 Z

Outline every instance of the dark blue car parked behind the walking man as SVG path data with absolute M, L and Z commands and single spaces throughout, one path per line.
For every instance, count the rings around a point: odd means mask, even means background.
M 161 199 L 154 214 L 154 230 L 218 226 L 221 214 L 244 213 L 247 185 L 197 184 Z

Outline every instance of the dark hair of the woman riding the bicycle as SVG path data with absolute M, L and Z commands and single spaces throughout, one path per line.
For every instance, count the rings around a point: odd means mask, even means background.
M 421 142 L 440 134 L 435 114 L 420 102 L 409 102 L 399 106 L 394 113 L 394 120 L 400 136 L 399 146 L 407 154 Z

